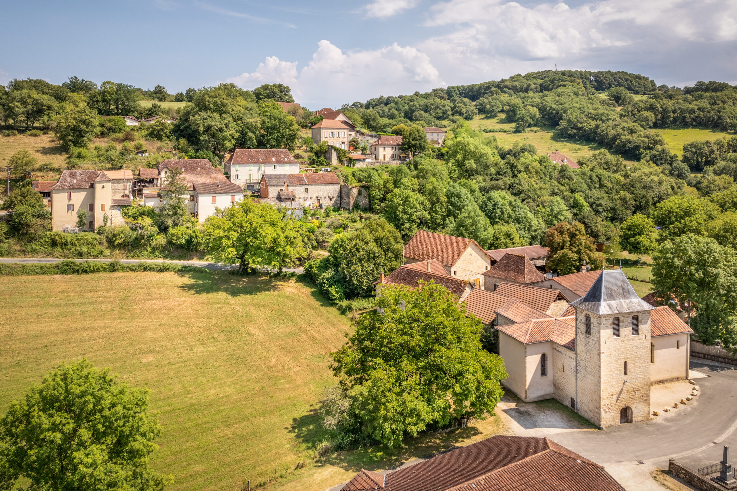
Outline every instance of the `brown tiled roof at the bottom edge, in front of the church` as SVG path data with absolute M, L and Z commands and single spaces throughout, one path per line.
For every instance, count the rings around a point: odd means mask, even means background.
M 497 435 L 388 473 L 361 470 L 340 491 L 624 491 L 599 464 L 547 438 Z

